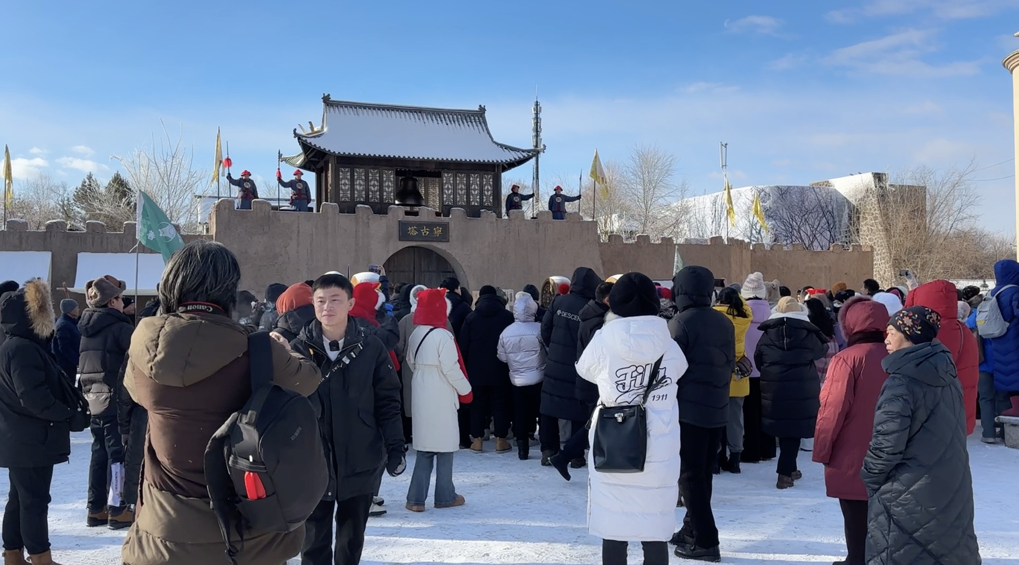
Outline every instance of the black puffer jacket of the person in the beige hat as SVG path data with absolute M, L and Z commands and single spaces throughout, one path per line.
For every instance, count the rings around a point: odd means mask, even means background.
M 761 322 L 753 354 L 761 373 L 761 429 L 775 438 L 813 438 L 821 407 L 814 361 L 824 357 L 828 341 L 805 319 L 779 316 Z

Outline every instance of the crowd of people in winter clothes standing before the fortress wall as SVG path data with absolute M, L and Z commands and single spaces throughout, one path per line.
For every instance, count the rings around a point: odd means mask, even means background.
M 331 271 L 259 301 L 228 249 L 197 241 L 137 313 L 112 275 L 89 281 L 86 309 L 61 301 L 59 316 L 45 281 L 4 282 L 4 565 L 55 563 L 53 468 L 84 427 L 86 524 L 129 528 L 125 565 L 358 563 L 369 518 L 385 513 L 383 476 L 405 472 L 409 450 L 406 509 L 425 512 L 433 472 L 433 508 L 467 503 L 454 454 L 486 443 L 525 461 L 537 448 L 566 480 L 590 468 L 588 530 L 606 565 L 626 563 L 629 542 L 649 565 L 668 562 L 669 543 L 720 561 L 713 475 L 775 460 L 775 486 L 791 489 L 801 457 L 823 464 L 839 500 L 840 563 L 978 563 L 966 436 L 979 414 L 981 440 L 998 443 L 996 416 L 1019 413 L 1019 263 L 996 274 L 985 296 L 912 276 L 794 293 L 759 272 L 727 286 L 687 266 L 664 288 L 580 267 L 542 301 L 531 285 L 475 298 L 455 278 L 390 288 Z M 272 340 L 250 350 L 259 329 Z M 266 398 L 256 358 L 314 411 L 309 461 L 327 467 L 322 484 L 299 486 L 324 492 L 285 528 L 258 526 L 269 522 L 255 503 L 276 491 L 254 456 L 225 463 L 239 469 L 225 509 L 212 494 L 216 430 Z M 646 441 L 624 441 L 634 432 Z

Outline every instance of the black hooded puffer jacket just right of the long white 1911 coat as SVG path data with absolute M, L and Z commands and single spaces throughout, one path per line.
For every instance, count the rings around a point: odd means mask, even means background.
M 736 368 L 736 328 L 726 314 L 711 308 L 714 274 L 684 267 L 673 278 L 677 314 L 668 330 L 690 368 L 680 379 L 680 421 L 701 427 L 729 422 L 729 383 Z

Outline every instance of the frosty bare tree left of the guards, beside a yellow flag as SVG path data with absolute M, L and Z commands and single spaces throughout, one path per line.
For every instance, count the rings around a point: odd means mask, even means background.
M 163 135 L 158 143 L 155 135 L 151 147 L 140 147 L 128 155 L 114 155 L 123 167 L 124 175 L 135 191 L 144 191 L 162 208 L 170 221 L 185 233 L 198 228 L 198 199 L 195 194 L 206 173 L 192 168 L 193 148 L 183 146 L 183 126 L 176 141 L 170 138 L 160 120 Z

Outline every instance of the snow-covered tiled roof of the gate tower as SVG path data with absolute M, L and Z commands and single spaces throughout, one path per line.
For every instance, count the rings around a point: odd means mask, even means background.
M 365 104 L 323 98 L 322 130 L 293 136 L 302 144 L 359 157 L 524 164 L 533 149 L 496 142 L 485 110 Z M 294 156 L 297 157 L 297 156 Z M 287 162 L 290 162 L 289 160 Z

